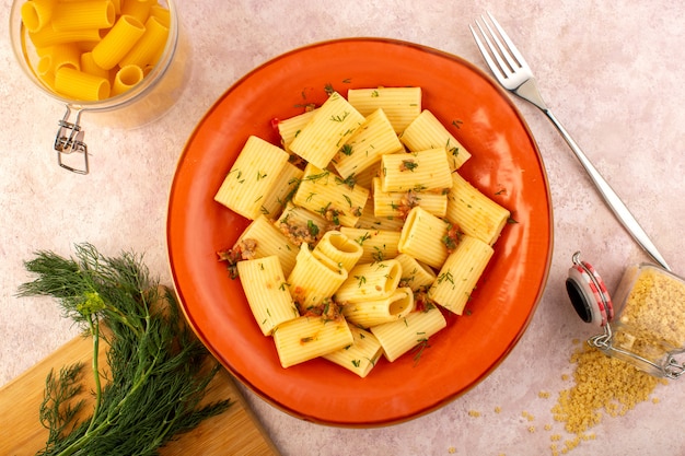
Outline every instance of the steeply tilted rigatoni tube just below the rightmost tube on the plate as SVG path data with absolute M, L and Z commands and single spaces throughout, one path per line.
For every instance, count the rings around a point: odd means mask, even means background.
M 448 311 L 462 315 L 492 254 L 492 247 L 483 241 L 462 236 L 428 290 L 428 296 Z

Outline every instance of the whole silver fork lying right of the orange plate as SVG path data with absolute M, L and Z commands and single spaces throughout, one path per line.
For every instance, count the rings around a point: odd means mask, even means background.
M 495 26 L 490 26 L 485 16 L 480 17 L 480 22 L 476 20 L 476 26 L 478 32 L 469 25 L 471 33 L 474 35 L 476 45 L 483 54 L 485 61 L 495 74 L 497 81 L 509 92 L 520 96 L 526 102 L 537 106 L 546 116 L 552 120 L 557 128 L 561 137 L 566 140 L 571 151 L 576 154 L 580 164 L 585 172 L 590 175 L 590 178 L 596 186 L 600 195 L 604 198 L 606 204 L 614 212 L 614 215 L 624 225 L 628 233 L 635 238 L 635 241 L 647 252 L 657 262 L 663 266 L 666 270 L 671 270 L 666 261 L 663 259 L 654 244 L 651 242 L 645 230 L 640 226 L 635 217 L 630 213 L 626 204 L 620 200 L 618 195 L 612 189 L 606 179 L 602 177 L 600 172 L 594 167 L 585 154 L 580 150 L 576 141 L 568 133 L 566 128 L 559 122 L 559 120 L 552 114 L 543 97 L 537 90 L 537 83 L 531 67 L 525 62 L 525 59 L 516 49 L 512 40 L 509 38 L 503 28 L 499 25 L 497 20 L 487 13 L 490 23 Z M 483 36 L 483 39 L 480 39 Z

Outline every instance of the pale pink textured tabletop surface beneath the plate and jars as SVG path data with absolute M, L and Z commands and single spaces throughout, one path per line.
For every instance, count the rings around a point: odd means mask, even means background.
M 174 108 L 142 129 L 88 125 L 89 176 L 55 163 L 51 142 L 59 104 L 21 72 L 7 26 L 0 37 L 0 384 L 11 381 L 77 332 L 49 300 L 18 299 L 27 280 L 22 261 L 36 249 L 69 255 L 91 242 L 105 254 L 144 253 L 171 283 L 164 225 L 175 164 L 195 124 L 221 93 L 255 66 L 313 42 L 383 36 L 460 55 L 483 67 L 467 25 L 486 9 L 534 67 L 553 110 L 628 203 L 671 267 L 685 273 L 685 7 L 666 0 L 599 4 L 590 0 L 520 2 L 302 1 L 182 2 L 190 79 Z M 227 8 L 228 4 L 228 8 Z M 2 0 L 0 22 L 9 21 Z M 550 408 L 571 384 L 573 339 L 594 334 L 576 315 L 564 280 L 573 252 L 613 290 L 625 265 L 647 259 L 615 221 L 552 125 L 516 102 L 547 166 L 555 210 L 555 253 L 543 301 L 522 340 L 483 383 L 428 416 L 404 424 L 348 430 L 291 418 L 246 391 L 285 455 L 544 455 L 564 434 Z M 475 311 L 477 312 L 477 309 Z M 685 381 L 660 386 L 643 402 L 593 429 L 596 440 L 570 454 L 685 454 Z M 538 397 L 539 391 L 550 398 Z M 495 409 L 501 408 L 496 413 Z M 473 417 L 469 411 L 479 411 Z M 530 422 L 522 412 L 534 416 Z M 552 424 L 553 430 L 544 429 Z M 529 426 L 535 425 L 535 432 Z

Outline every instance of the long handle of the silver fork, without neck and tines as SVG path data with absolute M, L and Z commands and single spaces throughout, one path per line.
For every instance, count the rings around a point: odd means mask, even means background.
M 665 259 L 661 256 L 657 246 L 651 242 L 642 226 L 638 223 L 638 221 L 632 217 L 628 207 L 622 201 L 616 191 L 612 188 L 611 185 L 602 177 L 600 172 L 594 167 L 592 162 L 585 156 L 582 150 L 578 147 L 573 138 L 566 131 L 566 128 L 559 122 L 559 120 L 552 114 L 552 112 L 547 108 L 542 108 L 543 113 L 552 120 L 554 126 L 557 128 L 564 140 L 567 142 L 576 157 L 580 161 L 580 164 L 583 166 L 588 175 L 596 186 L 600 195 L 604 198 L 606 204 L 614 212 L 614 215 L 618 219 L 618 221 L 625 226 L 625 229 L 630 233 L 630 235 L 635 238 L 635 241 L 647 252 L 657 262 L 659 262 L 666 270 L 671 270 Z

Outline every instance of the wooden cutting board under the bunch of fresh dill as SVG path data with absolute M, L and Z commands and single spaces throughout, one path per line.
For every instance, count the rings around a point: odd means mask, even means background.
M 103 346 L 106 344 L 101 343 Z M 51 369 L 58 372 L 62 366 L 79 361 L 86 367 L 90 366 L 92 350 L 91 338 L 77 337 L 0 388 L 0 455 L 33 455 L 45 447 L 48 432 L 38 420 L 45 378 Z M 104 348 L 101 353 L 104 353 Z M 101 360 L 104 359 L 102 355 Z M 86 374 L 84 377 L 91 376 Z M 278 449 L 249 410 L 231 375 L 221 370 L 210 384 L 207 400 L 227 398 L 233 402 L 228 411 L 204 421 L 194 431 L 182 434 L 178 440 L 161 448 L 160 454 L 279 456 Z

